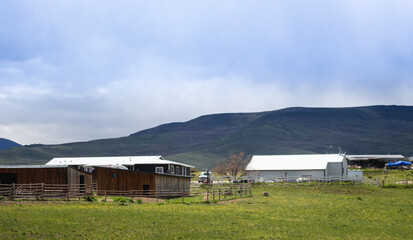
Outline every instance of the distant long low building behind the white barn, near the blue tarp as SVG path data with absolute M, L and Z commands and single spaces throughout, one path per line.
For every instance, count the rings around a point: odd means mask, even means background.
M 384 168 L 386 163 L 405 159 L 403 155 L 346 155 L 348 164 L 353 168 Z

